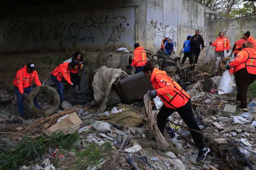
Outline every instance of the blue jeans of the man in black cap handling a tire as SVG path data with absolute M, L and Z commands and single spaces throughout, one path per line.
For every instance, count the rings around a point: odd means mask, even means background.
M 16 87 L 15 85 L 14 85 L 13 87 L 14 87 L 14 92 L 15 92 L 15 94 L 16 94 L 17 105 L 18 105 L 18 110 L 19 110 L 19 112 L 20 112 L 20 115 L 25 115 L 22 94 L 20 93 L 18 87 Z M 26 88 L 26 89 L 23 89 L 23 92 L 29 94 L 32 89 L 33 89 L 33 87 L 30 86 L 30 87 L 28 87 L 28 88 Z M 34 97 L 34 104 L 35 104 L 35 106 L 36 106 L 38 109 L 41 109 L 41 108 L 39 107 L 39 104 L 37 103 L 36 97 Z

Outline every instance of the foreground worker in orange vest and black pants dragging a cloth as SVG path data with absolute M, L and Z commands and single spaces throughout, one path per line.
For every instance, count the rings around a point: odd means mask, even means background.
M 143 69 L 145 76 L 151 81 L 154 90 L 149 90 L 150 98 L 156 95 L 164 102 L 157 114 L 157 127 L 164 136 L 164 129 L 167 118 L 176 110 L 183 121 L 188 125 L 194 143 L 199 148 L 197 161 L 203 161 L 210 149 L 205 147 L 203 135 L 195 121 L 190 96 L 172 78 L 167 76 L 165 71 L 154 67 L 152 61 L 148 61 Z M 195 131 L 194 131 L 195 130 Z M 156 137 L 149 137 L 148 140 L 156 141 Z

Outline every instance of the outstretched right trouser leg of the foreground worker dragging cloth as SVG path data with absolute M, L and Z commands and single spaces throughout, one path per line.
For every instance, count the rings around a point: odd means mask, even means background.
M 189 129 L 201 131 L 197 122 L 195 121 L 190 99 L 183 107 L 177 108 L 176 110 L 179 113 L 180 117 L 183 119 L 183 121 L 188 125 Z M 191 137 L 193 138 L 196 146 L 199 149 L 203 149 L 205 147 L 203 135 L 194 130 L 189 130 Z

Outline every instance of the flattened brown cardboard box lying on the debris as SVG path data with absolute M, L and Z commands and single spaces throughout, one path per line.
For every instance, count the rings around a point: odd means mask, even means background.
M 58 130 L 64 132 L 65 135 L 75 133 L 82 123 L 83 121 L 76 115 L 76 112 L 74 112 L 60 122 L 52 125 L 50 128 L 45 129 L 44 133 L 47 136 L 51 136 L 53 132 Z

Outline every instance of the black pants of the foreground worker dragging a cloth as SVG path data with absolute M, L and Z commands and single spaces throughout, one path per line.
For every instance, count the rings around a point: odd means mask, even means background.
M 198 124 L 195 121 L 191 102 L 189 99 L 187 104 L 177 109 L 168 108 L 165 105 L 160 109 L 159 113 L 157 114 L 157 126 L 163 135 L 164 135 L 164 129 L 166 125 L 166 119 L 170 115 L 172 115 L 172 113 L 175 110 L 179 113 L 183 121 L 188 125 L 189 129 L 200 131 L 200 128 L 198 127 Z M 203 149 L 205 147 L 203 135 L 192 130 L 190 130 L 190 134 L 196 144 L 196 147 L 198 147 L 198 149 Z

